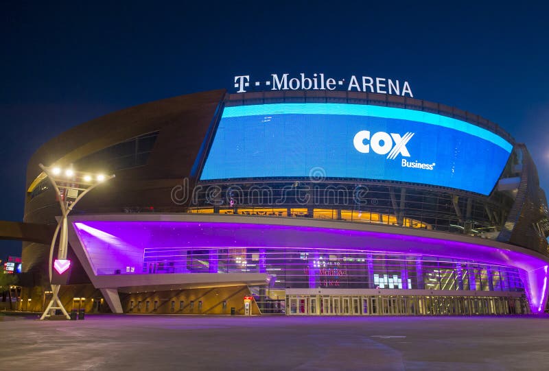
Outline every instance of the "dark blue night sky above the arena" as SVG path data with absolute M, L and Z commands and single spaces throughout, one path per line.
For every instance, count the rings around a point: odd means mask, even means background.
M 201 3 L 0 3 L 0 219 L 23 219 L 27 161 L 74 125 L 285 72 L 408 80 L 526 143 L 549 190 L 545 2 Z M 20 253 L 0 241 L 0 259 Z

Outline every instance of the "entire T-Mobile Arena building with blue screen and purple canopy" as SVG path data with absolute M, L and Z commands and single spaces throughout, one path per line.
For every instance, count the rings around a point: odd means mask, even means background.
M 548 296 L 548 209 L 526 146 L 397 95 L 209 91 L 68 130 L 27 168 L 25 223 L 55 226 L 38 164 L 115 173 L 69 216 L 67 309 L 506 315 Z M 48 243 L 25 242 L 26 309 Z M 244 298 L 248 300 L 244 300 Z

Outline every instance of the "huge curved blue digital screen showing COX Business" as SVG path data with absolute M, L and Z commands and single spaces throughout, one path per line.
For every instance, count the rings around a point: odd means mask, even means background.
M 397 180 L 488 195 L 513 146 L 471 123 L 361 104 L 227 107 L 200 180 Z M 312 174 L 314 173 L 314 174 Z

